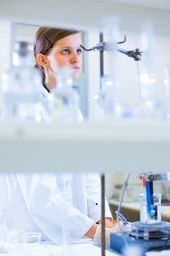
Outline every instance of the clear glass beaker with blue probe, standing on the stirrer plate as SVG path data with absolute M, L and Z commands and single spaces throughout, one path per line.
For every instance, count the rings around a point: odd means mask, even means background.
M 161 222 L 161 194 L 150 195 L 150 202 L 146 195 L 140 194 L 140 221 L 148 224 Z

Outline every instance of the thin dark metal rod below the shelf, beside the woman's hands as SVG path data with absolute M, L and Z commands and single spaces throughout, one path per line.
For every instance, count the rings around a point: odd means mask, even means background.
M 101 256 L 105 256 L 105 176 L 101 174 Z

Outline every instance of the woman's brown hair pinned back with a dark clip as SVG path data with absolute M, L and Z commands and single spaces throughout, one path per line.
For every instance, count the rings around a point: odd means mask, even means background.
M 48 54 L 50 50 L 55 45 L 55 42 L 62 39 L 63 37 L 68 37 L 72 34 L 77 34 L 79 31 L 75 29 L 59 29 L 54 27 L 39 27 L 36 31 L 36 35 L 34 38 L 34 57 L 36 60 L 36 56 L 39 53 Z M 35 67 L 39 69 L 39 72 L 42 75 L 42 83 L 44 85 L 45 81 L 45 70 L 43 67 L 39 66 L 36 63 Z

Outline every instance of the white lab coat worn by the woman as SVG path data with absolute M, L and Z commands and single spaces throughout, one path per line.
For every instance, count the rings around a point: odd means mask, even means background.
M 101 219 L 101 182 L 96 173 L 7 174 L 3 184 L 6 199 L 0 200 L 4 209 L 0 218 L 8 240 L 37 231 L 43 240 L 62 244 L 64 231 L 70 243 Z M 107 200 L 105 216 L 112 218 Z

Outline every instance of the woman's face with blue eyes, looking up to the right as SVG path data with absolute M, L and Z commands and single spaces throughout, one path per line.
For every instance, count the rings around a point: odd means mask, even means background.
M 79 78 L 82 69 L 81 44 L 82 39 L 79 33 L 58 40 L 47 55 L 50 70 L 56 73 L 58 67 L 71 67 L 74 70 L 73 79 Z

